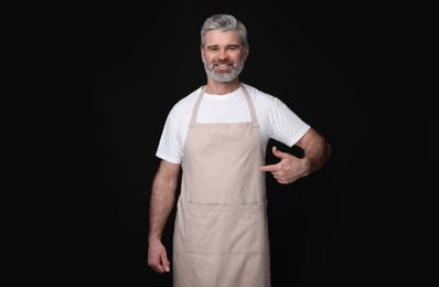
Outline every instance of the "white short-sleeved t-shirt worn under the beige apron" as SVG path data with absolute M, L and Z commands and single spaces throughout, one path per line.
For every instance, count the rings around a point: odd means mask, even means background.
M 253 100 L 261 132 L 261 152 L 265 155 L 270 138 L 292 147 L 310 128 L 279 98 L 243 84 Z M 180 99 L 164 123 L 156 156 L 172 163 L 181 163 L 189 123 L 202 87 Z M 251 120 L 242 88 L 225 95 L 204 93 L 196 123 L 247 123 Z

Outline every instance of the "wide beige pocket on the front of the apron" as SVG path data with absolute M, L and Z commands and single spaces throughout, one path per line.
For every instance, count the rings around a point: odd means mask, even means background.
M 185 249 L 206 254 L 261 252 L 261 204 L 188 203 Z

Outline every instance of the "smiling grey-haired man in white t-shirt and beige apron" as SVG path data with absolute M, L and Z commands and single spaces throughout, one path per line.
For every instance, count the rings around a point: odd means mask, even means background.
M 171 270 L 161 242 L 180 172 L 173 237 L 174 286 L 268 287 L 269 243 L 265 172 L 282 184 L 320 169 L 331 155 L 326 140 L 278 98 L 240 83 L 249 53 L 244 24 L 228 14 L 208 18 L 201 30 L 207 84 L 170 111 L 157 150 L 148 264 Z M 303 150 L 265 166 L 272 138 Z

